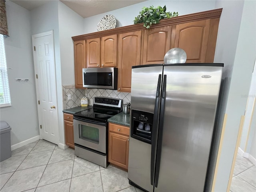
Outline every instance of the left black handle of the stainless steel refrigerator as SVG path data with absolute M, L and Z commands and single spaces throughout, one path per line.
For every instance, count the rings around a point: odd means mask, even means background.
M 160 88 L 161 88 L 161 79 L 162 75 L 158 76 L 158 84 L 156 89 L 156 101 L 154 108 L 154 118 L 152 126 L 152 144 L 151 144 L 151 162 L 150 162 L 150 182 L 151 185 L 154 185 L 154 166 L 155 166 L 155 151 L 156 151 L 156 138 L 157 138 L 157 127 L 158 127 L 158 108 L 160 103 Z

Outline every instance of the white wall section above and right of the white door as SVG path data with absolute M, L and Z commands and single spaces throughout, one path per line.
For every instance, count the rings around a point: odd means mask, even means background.
M 60 62 L 60 36 L 58 24 L 58 1 L 49 1 L 48 3 L 35 8 L 30 12 L 31 32 L 38 34 L 54 30 L 54 52 L 56 69 L 56 89 L 57 89 L 57 109 L 60 144 L 65 143 L 64 124 L 62 113 L 62 82 L 61 82 L 61 62 Z

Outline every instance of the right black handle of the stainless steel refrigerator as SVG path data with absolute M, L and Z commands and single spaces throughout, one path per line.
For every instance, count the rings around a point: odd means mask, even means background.
M 161 96 L 161 106 L 160 106 L 160 119 L 159 119 L 159 130 L 158 130 L 158 141 L 157 141 L 157 151 L 156 151 L 156 177 L 155 177 L 155 187 L 158 186 L 159 170 L 160 170 L 160 160 L 162 151 L 162 140 L 163 140 L 163 128 L 164 128 L 164 106 L 166 99 L 166 75 L 164 75 L 162 96 Z

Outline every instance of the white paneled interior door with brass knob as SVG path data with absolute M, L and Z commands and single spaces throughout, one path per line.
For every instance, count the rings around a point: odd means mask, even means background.
M 53 31 L 32 36 L 41 138 L 58 144 L 58 110 Z

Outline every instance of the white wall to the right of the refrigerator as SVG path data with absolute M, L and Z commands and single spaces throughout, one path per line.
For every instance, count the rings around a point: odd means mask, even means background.
M 226 191 L 234 157 L 240 118 L 244 115 L 256 53 L 255 1 L 216 1 L 223 7 L 214 62 L 224 62 L 218 131 L 227 114 L 215 191 Z M 220 132 L 218 132 L 220 134 Z M 215 151 L 217 152 L 217 150 Z

